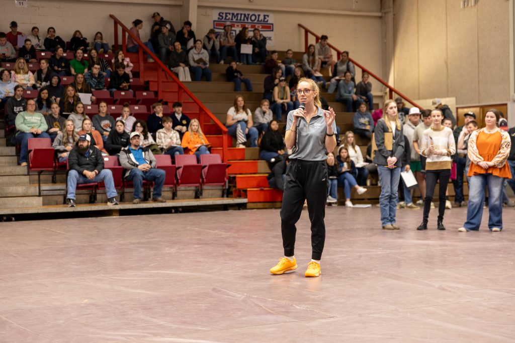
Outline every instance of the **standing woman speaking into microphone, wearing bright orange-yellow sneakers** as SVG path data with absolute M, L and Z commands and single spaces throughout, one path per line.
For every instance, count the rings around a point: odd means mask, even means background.
M 326 151 L 336 147 L 335 113 L 322 110 L 320 91 L 311 79 L 302 78 L 297 84 L 299 109 L 290 111 L 286 123 L 285 145 L 293 149 L 286 169 L 281 208 L 281 233 L 284 257 L 270 269 L 272 274 L 283 274 L 297 269 L 294 256 L 295 224 L 300 218 L 304 200 L 311 221 L 311 262 L 304 274 L 317 277 L 325 241 L 325 202 L 327 200 Z M 304 105 L 304 106 L 303 106 Z

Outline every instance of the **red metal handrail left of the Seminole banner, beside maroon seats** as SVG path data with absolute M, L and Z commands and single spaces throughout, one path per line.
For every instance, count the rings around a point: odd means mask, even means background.
M 165 80 L 163 80 L 163 76 L 161 74 L 161 71 L 164 71 L 164 73 L 169 78 L 174 80 L 178 84 L 178 86 L 179 86 L 178 87 L 178 100 L 181 101 L 182 94 L 184 93 L 188 97 L 190 97 L 199 106 L 199 115 L 200 115 L 199 122 L 200 122 L 200 125 L 201 125 L 201 129 L 203 129 L 205 116 L 208 116 L 211 120 L 213 120 L 213 122 L 221 130 L 221 132 L 222 132 L 222 139 L 224 140 L 222 142 L 222 159 L 224 160 L 225 163 L 227 163 L 228 159 L 229 159 L 229 150 L 228 150 L 229 147 L 228 147 L 228 143 L 227 143 L 228 130 L 225 127 L 225 125 L 222 124 L 218 120 L 218 118 L 216 118 L 213 115 L 213 113 L 211 113 L 211 111 L 209 111 L 207 109 L 207 107 L 205 107 L 204 104 L 195 95 L 193 95 L 193 93 L 190 91 L 190 89 L 188 89 L 177 78 L 177 76 L 175 76 L 175 74 L 172 73 L 171 70 L 168 69 L 168 67 L 163 62 L 161 62 L 159 60 L 159 58 L 156 55 L 154 55 L 145 46 L 145 44 L 143 44 L 143 42 L 140 39 L 138 39 L 138 37 L 136 37 L 136 35 L 134 35 L 132 32 L 130 32 L 130 30 L 121 21 L 119 21 L 116 16 L 114 16 L 113 14 L 109 14 L 109 16 L 114 21 L 114 48 L 115 49 L 118 48 L 118 25 L 119 25 L 122 28 L 122 50 L 124 51 L 124 53 L 127 52 L 127 39 L 126 39 L 125 33 L 130 35 L 130 37 L 134 40 L 134 42 L 138 43 L 138 45 L 140 46 L 140 48 L 138 49 L 138 60 L 139 60 L 139 64 L 140 64 L 140 78 L 144 79 L 144 75 L 145 75 L 145 68 L 144 68 L 144 63 L 143 63 L 143 52 L 146 52 L 148 54 L 148 56 L 150 56 L 154 61 L 156 61 L 158 66 L 161 68 L 161 70 L 158 69 L 158 97 L 160 99 L 162 99 L 162 85 L 163 85 L 162 83 Z

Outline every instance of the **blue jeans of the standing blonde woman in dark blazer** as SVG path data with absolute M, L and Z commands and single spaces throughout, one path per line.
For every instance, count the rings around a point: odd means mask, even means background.
M 377 173 L 379 173 L 379 180 L 381 182 L 381 195 L 379 196 L 381 225 L 395 224 L 401 168 L 390 169 L 385 166 L 377 166 Z

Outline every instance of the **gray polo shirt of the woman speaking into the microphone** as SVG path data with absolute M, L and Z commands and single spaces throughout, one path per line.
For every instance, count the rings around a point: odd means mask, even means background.
M 286 121 L 286 130 L 291 128 L 293 123 L 293 113 L 288 113 L 288 120 Z M 305 118 L 299 118 L 300 125 L 296 129 L 297 144 L 293 148 L 293 154 L 289 156 L 290 159 L 302 159 L 305 161 L 324 161 L 327 159 L 325 155 L 325 132 L 327 132 L 327 125 L 325 125 L 325 118 L 323 110 L 318 109 L 317 114 L 311 118 L 308 124 Z M 333 121 L 331 125 L 333 133 L 336 133 L 336 122 Z

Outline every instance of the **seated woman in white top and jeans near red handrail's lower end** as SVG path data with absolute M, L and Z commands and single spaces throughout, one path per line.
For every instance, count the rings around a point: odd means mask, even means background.
M 241 95 L 234 98 L 234 105 L 227 111 L 226 128 L 236 138 L 236 148 L 245 148 L 247 139 L 250 147 L 258 146 L 258 130 L 253 128 L 252 114 Z

